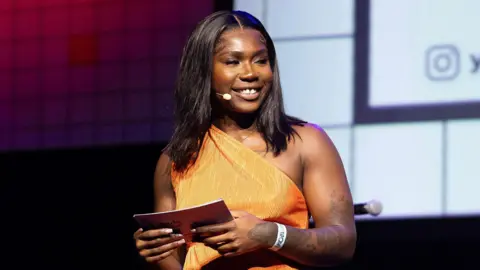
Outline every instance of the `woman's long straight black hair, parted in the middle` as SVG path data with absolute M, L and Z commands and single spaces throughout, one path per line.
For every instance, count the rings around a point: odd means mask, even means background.
M 285 150 L 296 134 L 292 125 L 305 123 L 285 114 L 277 55 L 262 23 L 244 11 L 218 11 L 200 21 L 183 49 L 175 89 L 175 122 L 170 143 L 165 148 L 177 172 L 192 165 L 212 124 L 213 56 L 221 34 L 234 28 L 259 31 L 266 40 L 273 82 L 258 112 L 256 127 L 275 155 Z

